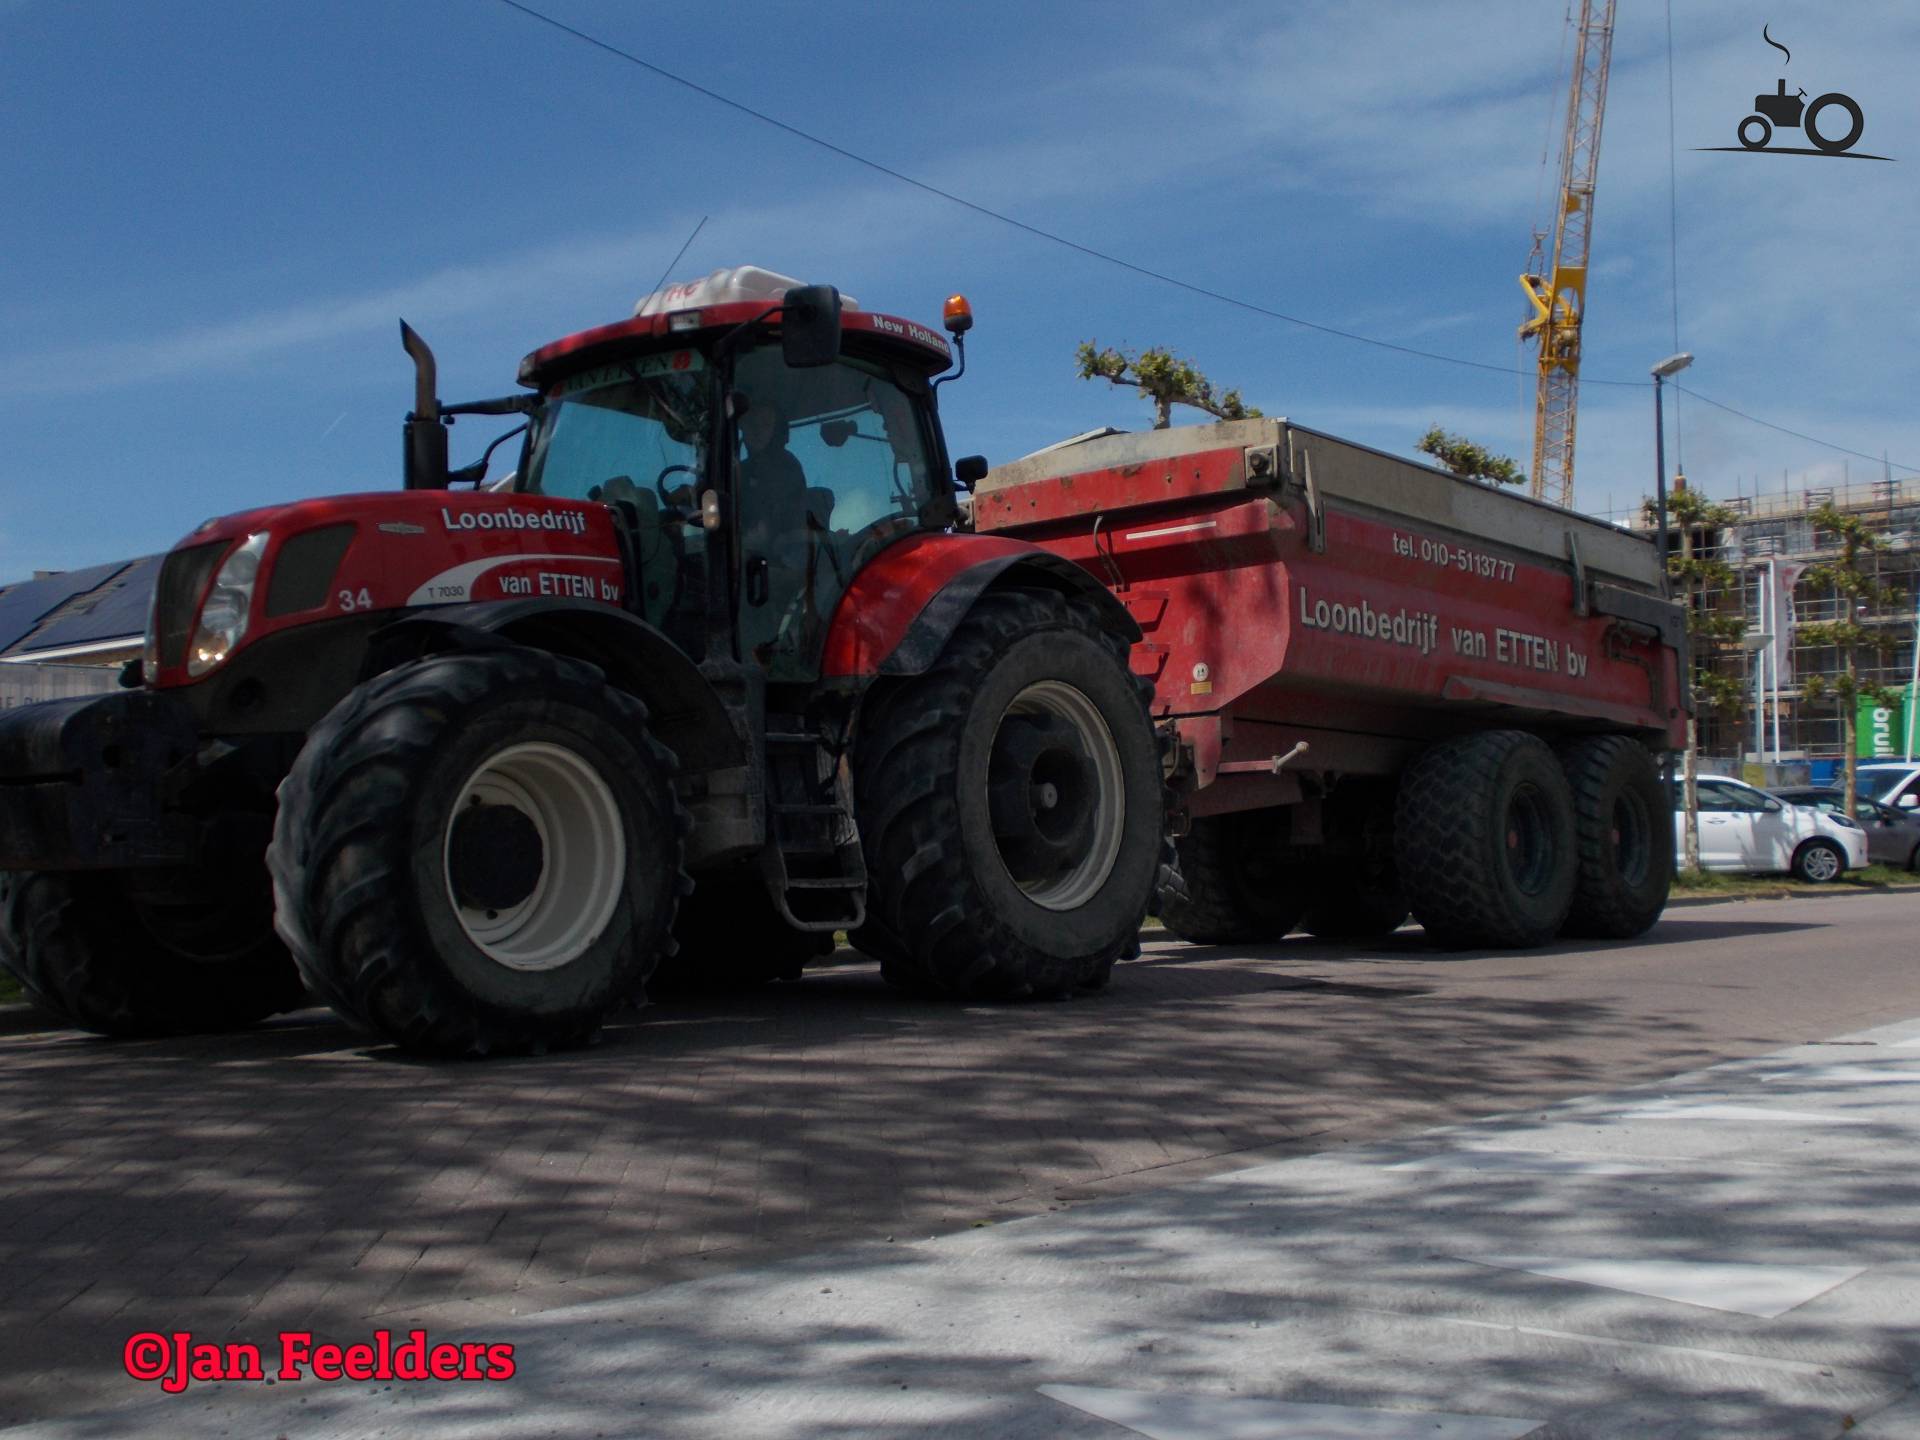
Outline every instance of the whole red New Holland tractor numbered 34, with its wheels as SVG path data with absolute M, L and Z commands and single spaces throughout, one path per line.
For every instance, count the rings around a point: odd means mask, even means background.
M 1139 626 L 956 532 L 947 338 L 751 269 L 505 399 L 440 405 L 403 338 L 401 492 L 209 520 L 131 689 L 0 722 L 0 964 L 40 1004 L 125 1035 L 307 989 L 492 1054 L 843 929 L 914 991 L 1106 981 L 1162 851 Z M 524 417 L 505 486 L 449 472 L 467 415 Z

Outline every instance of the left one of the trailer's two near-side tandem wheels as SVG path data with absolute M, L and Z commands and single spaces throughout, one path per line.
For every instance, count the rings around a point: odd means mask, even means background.
M 1544 945 L 1572 904 L 1572 795 L 1521 730 L 1428 747 L 1400 778 L 1394 858 L 1427 935 L 1450 947 Z

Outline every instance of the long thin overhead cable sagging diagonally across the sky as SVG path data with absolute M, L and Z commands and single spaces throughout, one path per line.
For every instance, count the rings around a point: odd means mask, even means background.
M 1112 255 L 1112 253 L 1108 253 L 1104 250 L 1096 250 L 1094 246 L 1081 244 L 1079 240 L 1071 240 L 1071 238 L 1068 238 L 1064 234 L 1058 234 L 1054 230 L 1044 230 L 1039 225 L 1029 225 L 1027 221 L 1014 219 L 1012 215 L 1006 215 L 1006 213 L 1002 213 L 998 209 L 993 209 L 991 205 L 981 205 L 979 202 L 968 200 L 966 196 L 956 196 L 952 190 L 943 190 L 937 184 L 929 184 L 927 180 L 914 179 L 912 175 L 906 175 L 904 171 L 897 171 L 891 165 L 883 165 L 877 159 L 868 159 L 866 156 L 860 156 L 860 154 L 856 154 L 852 150 L 847 150 L 845 146 L 833 144 L 831 140 L 826 140 L 826 138 L 822 138 L 818 134 L 812 134 L 810 131 L 803 131 L 799 125 L 789 125 L 787 121 L 778 119 L 774 115 L 768 115 L 762 109 L 755 109 L 753 106 L 747 106 L 747 104 L 743 104 L 739 100 L 733 100 L 732 96 L 724 96 L 718 90 L 710 90 L 705 84 L 699 84 L 697 81 L 689 81 L 685 75 L 676 75 L 674 71 L 666 69 L 664 65 L 655 65 L 651 60 L 643 60 L 643 58 L 636 56 L 632 50 L 622 50 L 616 44 L 609 44 L 607 40 L 601 40 L 597 35 L 589 35 L 588 31 L 576 29 L 574 25 L 568 25 L 563 19 L 555 19 L 553 15 L 547 15 L 545 12 L 540 12 L 540 10 L 534 10 L 528 4 L 522 4 L 522 0 L 499 0 L 499 4 L 507 6 L 509 10 L 518 12 L 520 15 L 526 15 L 528 19 L 540 21 L 541 25 L 547 25 L 547 27 L 559 31 L 561 35 L 572 36 L 574 40 L 580 40 L 582 44 L 593 46 L 595 50 L 601 50 L 601 52 L 605 52 L 605 54 L 609 54 L 609 56 L 612 56 L 616 60 L 624 60 L 628 65 L 637 65 L 639 69 L 647 71 L 649 75 L 657 75 L 662 81 L 670 81 L 672 84 L 678 84 L 678 86 L 682 86 L 685 90 L 691 90 L 693 94 L 705 96 L 707 100 L 712 100 L 718 106 L 726 106 L 728 109 L 735 109 L 741 115 L 749 115 L 749 117 L 760 121 L 762 125 L 772 125 L 776 131 L 783 131 L 785 134 L 791 134 L 797 140 L 804 140 L 806 144 L 818 146 L 820 150 L 835 154 L 841 159 L 852 161 L 854 165 L 862 165 L 864 169 L 870 169 L 876 175 L 885 175 L 889 180 L 899 180 L 900 184 L 910 184 L 914 190 L 922 190 L 924 194 L 929 194 L 929 196 L 935 196 L 939 200 L 945 200 L 950 205 L 960 205 L 962 209 L 973 211 L 975 215 L 983 215 L 985 219 L 998 221 L 1000 225 L 1010 225 L 1012 228 L 1021 230 L 1025 234 L 1031 234 L 1037 240 L 1044 240 L 1048 244 L 1062 246 L 1062 248 L 1071 250 L 1071 252 L 1075 252 L 1079 255 L 1087 255 L 1089 259 L 1096 259 L 1102 265 L 1114 265 L 1117 269 L 1129 271 L 1131 275 L 1139 275 L 1139 276 L 1142 276 L 1146 280 L 1156 280 L 1160 284 L 1173 286 L 1175 290 L 1185 290 L 1190 296 L 1202 296 L 1206 300 L 1219 301 L 1221 305 L 1233 305 L 1235 309 L 1242 309 L 1242 311 L 1246 311 L 1250 315 L 1263 315 L 1265 319 L 1271 319 L 1271 321 L 1284 321 L 1286 324 L 1298 324 L 1304 330 L 1313 330 L 1317 334 L 1327 334 L 1327 336 L 1332 336 L 1336 340 L 1352 340 L 1354 344 L 1373 346 L 1377 349 L 1390 349 L 1390 351 L 1394 351 L 1398 355 L 1411 355 L 1415 359 L 1430 359 L 1430 361 L 1438 361 L 1442 365 L 1459 365 L 1459 367 L 1465 367 L 1465 369 L 1471 369 L 1471 371 L 1488 371 L 1492 374 L 1517 374 L 1517 376 L 1523 376 L 1523 378 L 1526 374 L 1530 374 L 1528 371 L 1519 369 L 1519 367 L 1490 365 L 1486 361 L 1465 359 L 1463 355 L 1444 355 L 1444 353 L 1434 351 L 1434 349 L 1417 349 L 1413 346 L 1394 344 L 1392 340 L 1380 340 L 1379 336 L 1359 334 L 1356 330 L 1342 330 L 1342 328 L 1338 328 L 1334 324 L 1321 324 L 1319 321 L 1308 321 L 1308 319 L 1302 319 L 1300 315 L 1288 315 L 1286 311 L 1271 309 L 1267 305 L 1258 305 L 1252 300 L 1242 300 L 1238 296 L 1229 296 L 1229 294 L 1225 294 L 1221 290 L 1210 290 L 1204 284 L 1194 284 L 1192 280 L 1183 280 L 1177 275 L 1167 275 L 1167 273 L 1156 271 L 1156 269 L 1152 269 L 1148 265 L 1137 265 L 1131 259 L 1121 259 L 1119 255 Z M 1617 386 L 1617 388 L 1640 390 L 1640 388 L 1651 384 L 1651 380 L 1607 380 L 1607 378 L 1601 378 L 1601 376 L 1580 376 L 1580 384 L 1590 384 L 1590 386 Z M 1868 461 L 1880 461 L 1882 459 L 1880 455 L 1868 455 L 1866 451 L 1849 449 L 1847 445 L 1836 445 L 1830 440 L 1820 440 L 1816 436 L 1801 434 L 1799 430 L 1789 430 L 1784 424 L 1774 424 L 1772 420 L 1763 420 L 1757 415 L 1747 415 L 1745 411 L 1734 409 L 1732 405 L 1722 405 L 1716 399 L 1709 399 L 1707 396 L 1699 394 L 1697 390 L 1686 390 L 1684 386 L 1674 386 L 1674 388 L 1676 390 L 1684 390 L 1693 399 L 1699 399 L 1699 401 L 1703 401 L 1707 405 L 1713 405 L 1715 409 L 1722 409 L 1728 415 L 1738 415 L 1741 420 L 1751 420 L 1753 424 L 1766 426 L 1768 430 L 1778 430 L 1780 434 L 1793 436 L 1795 440 L 1805 440 L 1805 442 L 1814 444 L 1814 445 L 1824 445 L 1826 449 L 1839 451 L 1841 455 L 1857 455 L 1857 457 L 1868 459 Z M 1897 468 L 1901 468 L 1901 470 L 1914 470 L 1916 467 L 1912 467 L 1912 465 L 1899 465 Z

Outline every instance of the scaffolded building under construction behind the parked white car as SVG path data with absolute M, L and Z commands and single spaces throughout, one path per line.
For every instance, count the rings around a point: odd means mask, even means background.
M 1684 484 L 1684 482 L 1676 482 Z M 1843 618 L 1847 601 L 1805 578 L 1809 566 L 1839 555 L 1839 540 L 1814 524 L 1822 505 L 1860 516 L 1885 538 L 1884 549 L 1860 555 L 1860 568 L 1893 588 L 1891 603 L 1862 609 L 1859 622 L 1885 637 L 1885 649 L 1862 647 L 1855 657 L 1862 685 L 1905 693 L 1899 707 L 1860 703 L 1857 751 L 1862 756 L 1912 753 L 1920 735 L 1914 691 L 1914 607 L 1920 605 L 1920 476 L 1811 488 L 1716 501 L 1734 511 L 1720 530 L 1695 530 L 1692 553 L 1718 559 L 1730 586 L 1709 586 L 1701 605 L 1741 620 L 1745 641 L 1709 647 L 1703 664 L 1738 680 L 1738 705 L 1701 708 L 1699 749 L 1726 762 L 1834 762 L 1843 730 L 1832 682 L 1845 670 L 1832 645 L 1811 645 L 1801 628 Z M 1651 528 L 1651 520 L 1638 518 Z M 1670 538 L 1678 553 L 1682 536 Z M 1807 697 L 1820 676 L 1826 693 Z

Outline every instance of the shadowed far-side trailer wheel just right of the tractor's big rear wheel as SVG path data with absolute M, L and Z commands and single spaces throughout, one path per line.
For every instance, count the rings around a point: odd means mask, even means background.
M 1284 939 L 1313 895 L 1311 868 L 1286 858 L 1275 810 L 1204 816 L 1173 841 L 1160 924 L 1188 945 Z

